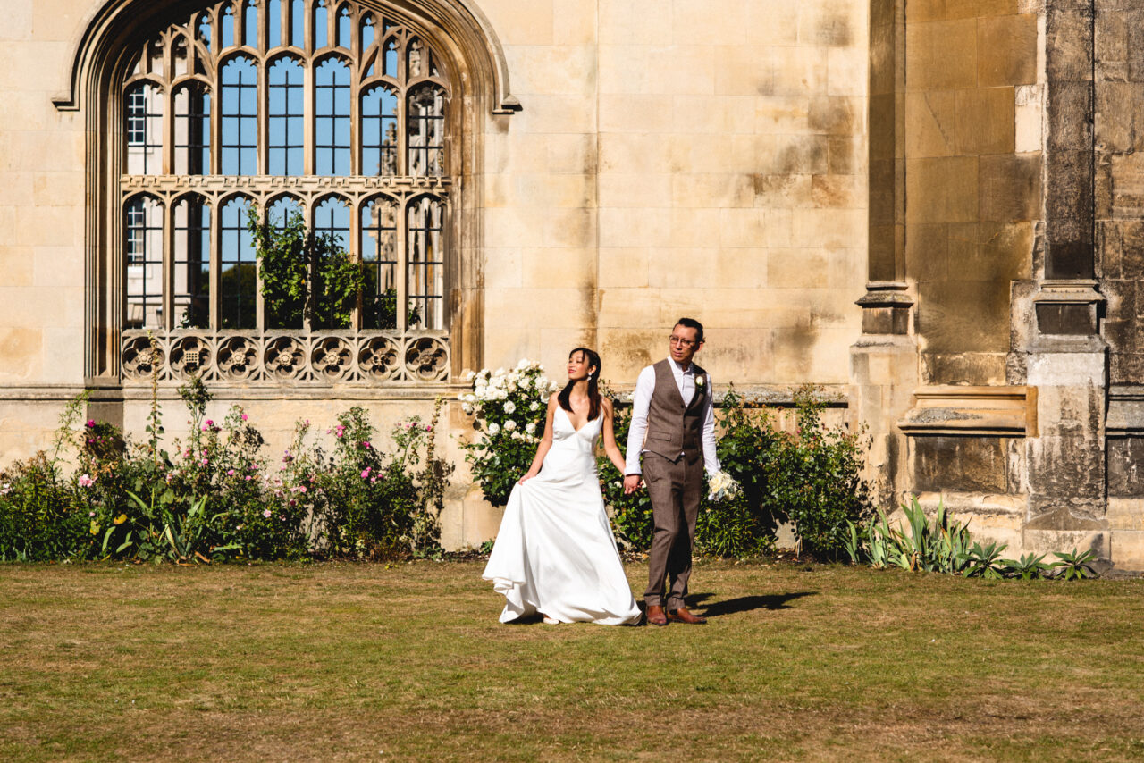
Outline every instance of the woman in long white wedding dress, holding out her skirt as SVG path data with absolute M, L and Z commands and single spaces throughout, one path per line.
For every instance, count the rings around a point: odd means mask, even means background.
M 599 395 L 599 356 L 569 355 L 569 383 L 548 399 L 545 437 L 513 487 L 482 575 L 507 599 L 501 622 L 540 613 L 545 622 L 637 623 L 596 477 L 596 439 L 623 474 L 612 403 Z

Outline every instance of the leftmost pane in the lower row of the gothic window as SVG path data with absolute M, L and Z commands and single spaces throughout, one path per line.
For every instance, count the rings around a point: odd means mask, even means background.
M 151 197 L 135 197 L 124 214 L 124 262 L 127 267 L 126 328 L 162 327 L 162 207 Z

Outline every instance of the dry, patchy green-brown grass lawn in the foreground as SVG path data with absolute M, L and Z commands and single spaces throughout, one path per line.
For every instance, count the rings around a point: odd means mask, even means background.
M 605 628 L 480 570 L 0 565 L 0 760 L 1144 758 L 1144 580 L 699 563 Z

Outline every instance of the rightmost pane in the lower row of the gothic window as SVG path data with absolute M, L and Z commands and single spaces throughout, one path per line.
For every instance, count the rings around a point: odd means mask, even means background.
M 406 287 L 410 326 L 445 326 L 444 205 L 431 197 L 416 199 L 408 209 Z

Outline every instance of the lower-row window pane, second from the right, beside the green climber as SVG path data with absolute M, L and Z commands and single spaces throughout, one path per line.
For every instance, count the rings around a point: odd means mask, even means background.
M 362 208 L 363 328 L 397 327 L 397 205 L 372 199 Z

